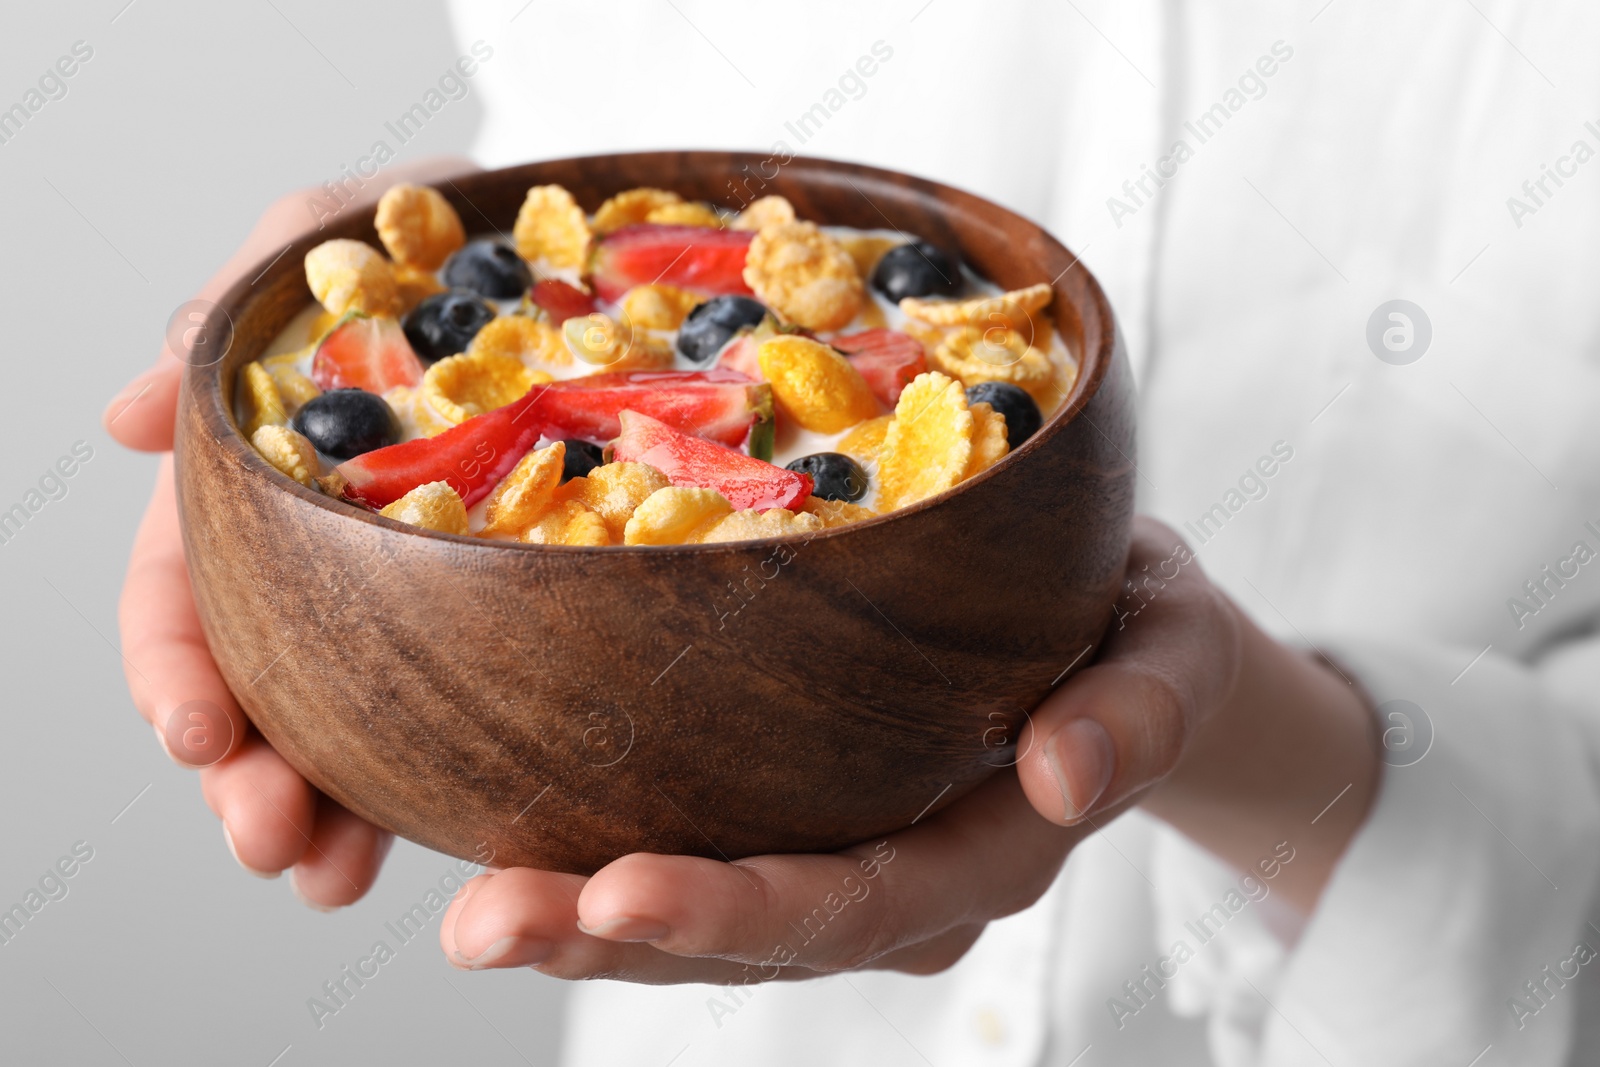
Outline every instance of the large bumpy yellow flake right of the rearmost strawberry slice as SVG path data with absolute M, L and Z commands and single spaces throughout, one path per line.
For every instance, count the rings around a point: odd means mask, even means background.
M 845 328 L 866 299 L 856 261 L 811 222 L 757 232 L 744 261 L 744 283 L 763 304 L 808 330 Z

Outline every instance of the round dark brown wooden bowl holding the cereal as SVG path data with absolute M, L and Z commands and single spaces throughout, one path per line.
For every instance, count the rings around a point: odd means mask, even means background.
M 200 619 L 272 745 L 350 811 L 496 865 L 634 851 L 827 851 L 1014 763 L 1027 710 L 1091 659 L 1133 514 L 1133 389 L 1094 278 L 1032 222 L 938 182 L 762 154 L 643 152 L 445 182 L 470 230 L 530 186 L 587 210 L 661 186 L 898 227 L 1006 288 L 1051 282 L 1082 360 L 1043 430 L 986 474 L 810 539 L 574 549 L 421 531 L 331 501 L 240 437 L 234 373 L 312 299 L 302 258 L 378 245 L 350 211 L 246 272 L 226 358 L 190 366 L 178 501 Z M 259 275 L 259 277 L 258 277 Z

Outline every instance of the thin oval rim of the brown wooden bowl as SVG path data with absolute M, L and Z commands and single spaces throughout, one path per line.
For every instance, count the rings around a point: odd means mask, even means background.
M 515 171 L 525 166 L 586 165 L 586 163 L 597 163 L 597 162 L 619 160 L 619 158 L 664 157 L 664 155 L 670 155 L 686 163 L 694 163 L 696 160 L 704 163 L 712 163 L 715 160 L 717 163 L 726 165 L 730 158 L 733 160 L 746 158 L 749 162 L 758 162 L 768 158 L 771 154 L 760 150 L 598 152 L 590 155 L 530 160 L 526 163 L 517 163 L 512 166 L 498 166 L 482 171 L 469 171 L 453 178 L 440 178 L 435 179 L 434 182 L 424 182 L 424 184 L 429 184 L 435 189 L 440 186 L 450 186 L 451 190 L 454 190 L 461 198 L 470 203 L 467 194 L 461 190 L 459 184 L 472 186 L 482 181 L 488 181 L 494 176 L 504 174 L 506 171 Z M 886 179 L 890 182 L 909 178 L 922 189 L 941 194 L 942 200 L 939 211 L 942 213 L 949 213 L 950 206 L 968 206 L 968 208 L 979 208 L 992 216 L 998 216 L 1021 224 L 1022 227 L 1035 234 L 1038 238 L 1042 238 L 1046 248 L 1054 246 L 1054 250 L 1062 253 L 1069 261 L 1067 267 L 1048 282 L 1048 285 L 1053 290 L 1051 293 L 1053 302 L 1059 298 L 1056 285 L 1061 282 L 1061 278 L 1064 278 L 1067 274 L 1074 270 L 1082 270 L 1083 283 L 1086 286 L 1086 293 L 1090 298 L 1088 302 L 1093 306 L 1094 315 L 1099 318 L 1101 323 L 1099 346 L 1094 350 L 1085 349 L 1083 352 L 1075 354 L 1078 358 L 1078 374 L 1077 379 L 1072 382 L 1072 390 L 1067 394 L 1066 400 L 1062 400 L 1061 406 L 1054 411 L 1054 414 L 1051 414 L 1045 421 L 1045 424 L 1027 442 L 1022 443 L 1021 448 L 1008 451 L 998 462 L 982 470 L 981 474 L 970 478 L 962 478 L 949 490 L 944 490 L 942 493 L 938 493 L 934 496 L 923 498 L 915 504 L 909 504 L 885 515 L 874 515 L 872 518 L 845 523 L 842 526 L 827 526 L 816 531 L 784 534 L 778 537 L 755 537 L 747 541 L 718 541 L 709 544 L 677 544 L 677 545 L 643 545 L 643 544 L 562 545 L 562 544 L 528 544 L 522 541 L 499 541 L 491 537 L 478 537 L 474 534 L 451 534 L 437 530 L 427 530 L 422 526 L 413 526 L 411 523 L 403 523 L 395 518 L 387 518 L 384 515 L 379 515 L 376 510 L 365 510 L 347 501 L 339 501 L 317 490 L 307 488 L 299 482 L 296 482 L 294 478 L 285 475 L 277 467 L 274 467 L 245 438 L 243 432 L 238 429 L 238 424 L 234 419 L 234 405 L 230 398 L 224 397 L 222 366 L 227 363 L 227 357 L 232 354 L 232 344 L 222 354 L 221 358 L 205 365 L 189 363 L 184 368 L 184 394 L 187 394 L 189 403 L 194 403 L 197 406 L 200 421 L 211 437 L 206 446 L 222 448 L 235 462 L 245 467 L 251 475 L 264 475 L 269 483 L 277 485 L 280 490 L 286 490 L 293 496 L 298 496 L 301 501 L 312 504 L 318 509 L 323 509 L 333 515 L 339 515 L 350 522 L 378 525 L 381 530 L 406 533 L 429 541 L 443 541 L 458 545 L 470 545 L 474 549 L 482 549 L 482 550 L 512 550 L 512 552 L 555 552 L 555 553 L 586 553 L 586 555 L 648 553 L 653 557 L 707 555 L 707 553 L 747 552 L 752 545 L 811 544 L 813 541 L 843 537 L 867 528 L 878 528 L 898 520 L 907 520 L 912 515 L 917 515 L 930 507 L 938 507 L 939 504 L 946 502 L 952 496 L 968 488 L 987 482 L 1002 469 L 1011 467 L 1014 466 L 1014 462 L 1022 462 L 1030 453 L 1043 446 L 1045 440 L 1062 432 L 1069 422 L 1075 421 L 1090 405 L 1090 402 L 1096 397 L 1102 382 L 1106 381 L 1106 376 L 1110 373 L 1110 366 L 1115 358 L 1117 333 L 1118 333 L 1117 320 L 1115 315 L 1112 314 L 1110 301 L 1106 298 L 1106 293 L 1101 288 L 1099 280 L 1094 277 L 1094 274 L 1083 264 L 1083 261 L 1077 253 L 1074 253 L 1064 242 L 1056 238 L 1042 224 L 1034 222 L 1032 219 L 1018 214 L 1016 211 L 1000 203 L 995 203 L 994 200 L 981 197 L 978 194 L 968 192 L 955 186 L 947 186 L 944 182 L 930 178 L 922 178 L 920 174 L 912 174 L 909 171 L 896 171 L 883 166 L 872 166 L 867 163 L 854 163 L 850 160 L 834 160 L 834 158 L 811 157 L 811 155 L 792 155 L 789 162 L 786 162 L 782 166 L 784 170 L 794 168 L 795 171 L 834 173 L 846 178 L 846 181 L 851 176 L 878 178 L 878 179 Z M 851 184 L 854 186 L 856 182 Z M 446 190 L 440 189 L 440 192 Z M 864 192 L 861 195 L 866 197 Z M 474 210 L 477 210 L 475 205 L 472 206 Z M 360 224 L 371 226 L 373 219 L 376 218 L 376 211 L 378 211 L 376 202 L 370 206 L 362 208 L 360 211 L 352 211 L 347 216 L 347 219 L 341 222 L 341 229 Z M 488 221 L 488 216 L 485 216 L 482 211 L 478 211 L 478 214 L 483 216 L 485 221 Z M 829 222 L 822 221 L 819 222 L 819 226 L 829 226 Z M 493 222 L 490 222 L 490 227 L 498 229 L 494 227 Z M 309 250 L 315 243 L 322 243 L 320 240 L 314 240 L 318 234 L 320 230 L 302 232 L 294 238 L 291 238 L 288 245 L 285 245 L 285 248 L 278 251 L 277 256 L 270 259 L 262 258 L 258 262 L 251 264 L 246 270 L 243 270 L 238 280 L 234 285 L 230 285 L 227 291 L 222 293 L 222 296 L 216 301 L 216 304 L 206 309 L 205 314 L 206 328 L 214 330 L 218 326 L 226 326 L 227 330 L 232 330 L 234 323 L 243 315 L 243 312 L 250 307 L 250 304 L 254 299 L 266 296 L 266 291 L 258 293 L 254 290 L 256 283 L 261 282 L 262 277 L 270 274 L 274 267 L 278 264 L 278 261 L 283 259 L 286 253 L 294 251 L 298 245 L 306 245 L 306 248 Z M 322 238 L 322 240 L 330 240 L 330 238 Z M 224 322 L 218 322 L 218 317 L 222 317 Z M 182 462 L 181 458 L 179 462 Z

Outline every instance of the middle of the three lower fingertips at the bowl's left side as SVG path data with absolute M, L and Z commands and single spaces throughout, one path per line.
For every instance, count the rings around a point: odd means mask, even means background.
M 259 734 L 202 771 L 200 790 L 222 819 L 222 838 L 245 870 L 275 878 L 310 846 L 315 792 Z

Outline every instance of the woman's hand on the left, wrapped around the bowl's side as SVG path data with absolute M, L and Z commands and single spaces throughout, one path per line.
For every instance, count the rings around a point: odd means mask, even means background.
M 472 170 L 466 160 L 427 160 L 395 168 L 394 181 L 437 181 Z M 355 205 L 381 189 L 362 190 Z M 200 290 L 216 301 L 256 264 L 314 229 L 310 194 L 278 200 L 245 245 Z M 139 451 L 168 453 L 184 363 L 163 350 L 107 405 L 114 438 Z M 120 627 L 128 688 L 139 713 L 182 766 L 200 768 L 206 805 L 222 819 L 222 837 L 251 873 L 290 870 L 294 891 L 312 907 L 357 901 L 373 885 L 390 837 L 320 795 L 254 733 L 218 673 L 200 632 L 178 530 L 173 459 L 162 459 L 122 590 Z

